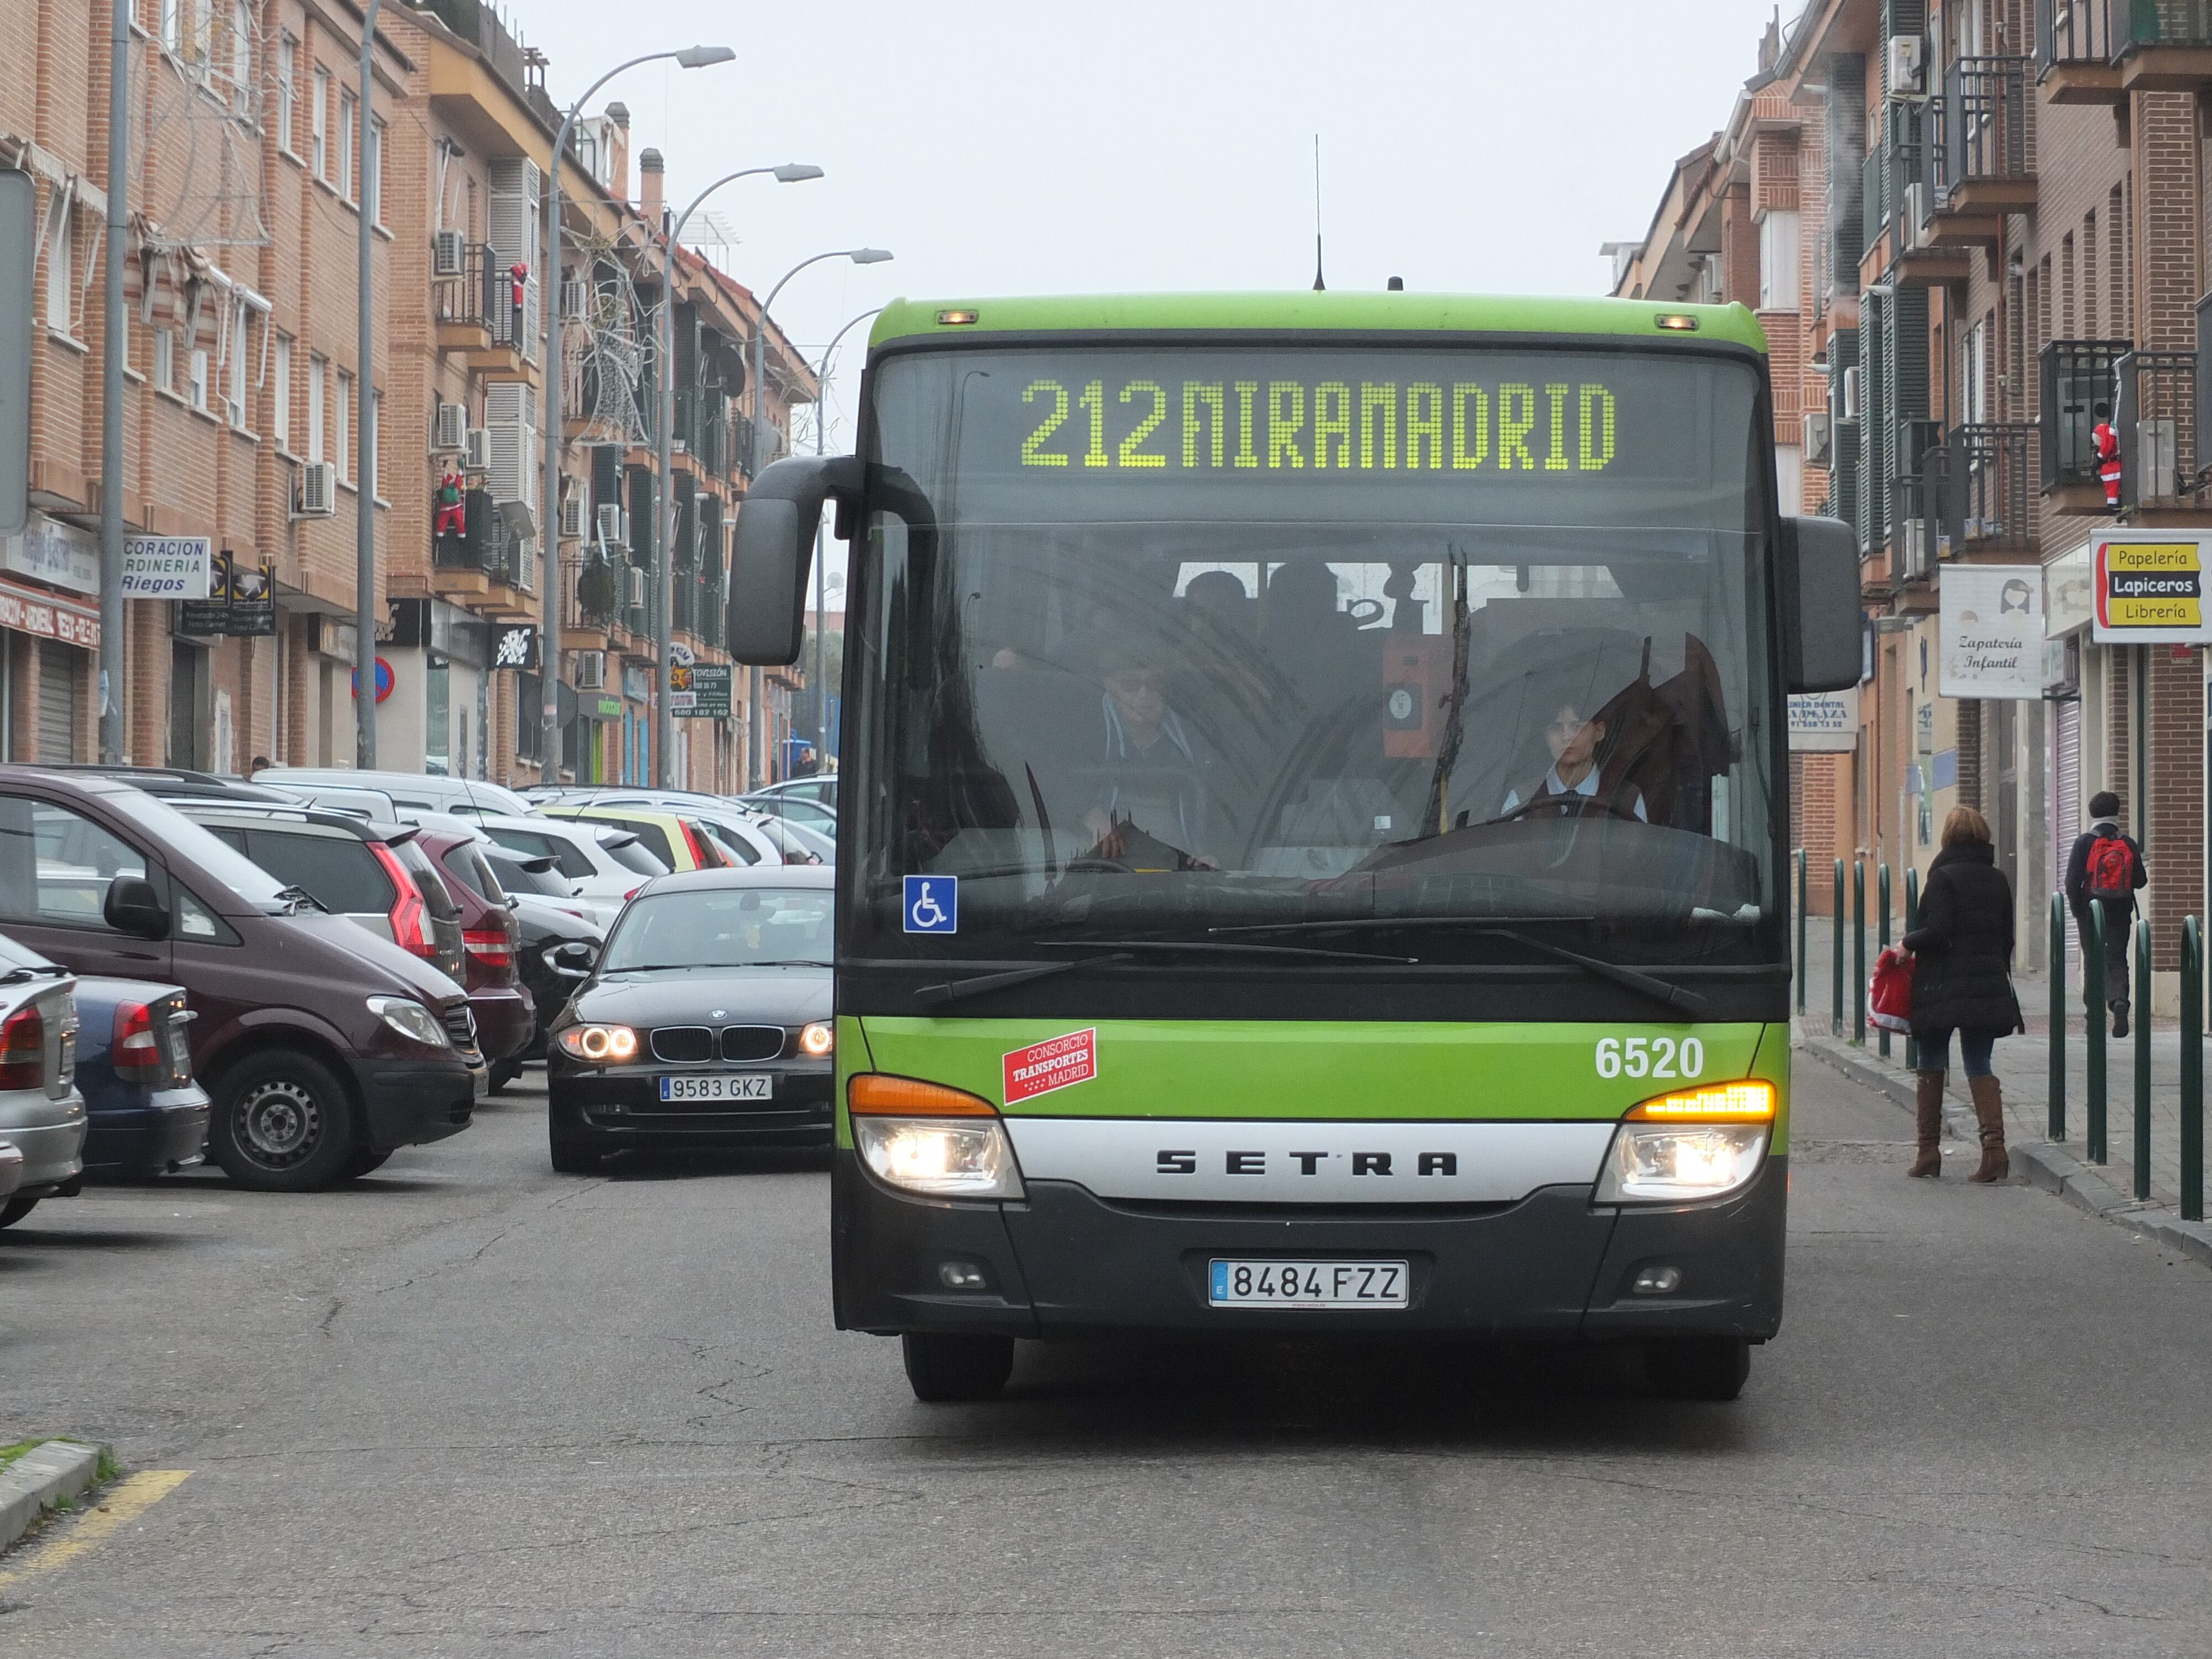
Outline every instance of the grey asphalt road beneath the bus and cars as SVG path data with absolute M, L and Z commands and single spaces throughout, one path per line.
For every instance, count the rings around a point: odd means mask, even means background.
M 555 1177 L 529 1088 L 345 1192 L 49 1203 L 0 1427 L 190 1478 L 0 1559 L 0 1652 L 2212 1650 L 2212 1274 L 1962 1150 L 1907 1181 L 1898 1108 L 1798 1071 L 1728 1407 L 1305 1345 L 1026 1347 L 922 1407 L 830 1329 L 816 1166 Z

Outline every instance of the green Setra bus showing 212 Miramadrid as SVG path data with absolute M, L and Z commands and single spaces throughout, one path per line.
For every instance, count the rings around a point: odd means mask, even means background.
M 1637 1343 L 1783 1303 L 1785 695 L 1858 553 L 1776 500 L 1741 305 L 889 305 L 858 453 L 739 515 L 799 655 L 852 544 L 836 1321 Z

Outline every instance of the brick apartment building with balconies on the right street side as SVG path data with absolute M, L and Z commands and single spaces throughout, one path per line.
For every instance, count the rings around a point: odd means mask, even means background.
M 2090 588 L 2099 540 L 2212 531 L 2208 91 L 2194 0 L 1809 0 L 1646 239 L 1608 250 L 1619 294 L 1759 312 L 1785 504 L 1858 529 L 1856 730 L 1792 757 L 1814 909 L 1832 858 L 1924 872 L 1971 803 L 2042 960 L 2066 849 L 2110 787 L 2152 872 L 2161 1000 L 2205 902 L 2205 653 L 2099 641 Z M 2042 664 L 1944 697 L 1944 586 L 1966 615 L 1993 582 L 2039 608 Z

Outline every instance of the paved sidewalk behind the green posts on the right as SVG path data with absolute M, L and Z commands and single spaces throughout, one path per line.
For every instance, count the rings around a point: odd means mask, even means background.
M 1834 933 L 1827 918 L 1807 920 L 1805 1013 L 1796 1018 L 1796 1046 L 1836 1066 L 1849 1077 L 1889 1093 L 1911 1108 L 1913 1077 L 1907 1068 L 1907 1040 L 1891 1037 L 1891 1053 L 1880 1053 L 1878 1035 L 1867 1031 L 1865 1046 L 1851 1042 L 1851 1009 L 1856 1004 L 1851 975 L 1851 931 L 1845 925 L 1845 1002 L 1843 1029 L 1832 1029 Z M 1792 951 L 1796 940 L 1792 938 Z M 1867 962 L 1876 956 L 1874 925 L 1867 927 Z M 2121 1221 L 2137 1232 L 2183 1250 L 2212 1265 L 2212 1228 L 2183 1221 L 2181 1203 L 2181 1029 L 2157 1020 L 2150 1029 L 2150 1199 L 2135 1197 L 2135 1033 L 2106 1040 L 2106 1164 L 2088 1161 L 2088 1035 L 2081 1020 L 2081 987 L 2068 982 L 2066 1020 L 2066 1133 L 2051 1139 L 2051 987 L 2039 973 L 2015 973 L 2020 1006 L 2028 1033 L 2004 1037 L 1995 1053 L 1997 1082 L 2004 1086 L 2004 1139 L 2013 1170 L 2051 1192 L 2059 1192 L 2084 1210 Z M 1966 1077 L 1953 1046 L 1944 1077 L 1949 1106 L 1944 1113 L 1944 1161 L 1969 1157 L 1975 1146 L 1973 1110 Z M 1958 1150 L 1951 1150 L 1958 1141 Z

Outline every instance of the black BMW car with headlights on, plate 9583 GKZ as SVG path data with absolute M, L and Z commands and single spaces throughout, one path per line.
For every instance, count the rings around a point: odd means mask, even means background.
M 555 1170 L 830 1137 L 834 883 L 830 865 L 697 869 L 624 907 L 549 1031 Z

